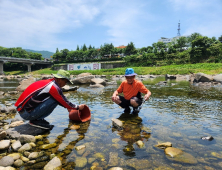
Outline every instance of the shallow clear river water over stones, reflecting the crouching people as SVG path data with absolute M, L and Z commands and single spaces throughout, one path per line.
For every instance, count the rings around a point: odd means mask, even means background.
M 18 82 L 2 84 L 0 91 L 14 90 Z M 64 169 L 90 169 L 92 165 L 103 169 L 222 169 L 221 87 L 150 83 L 146 87 L 152 97 L 138 116 L 123 114 L 123 109 L 112 102 L 117 87 L 80 86 L 75 92 L 65 93 L 71 102 L 89 106 L 92 118 L 88 122 L 70 121 L 67 110 L 60 106 L 46 118 L 55 127 L 45 134 L 44 143 L 57 144 L 47 152 L 61 157 Z M 123 121 L 124 129 L 113 126 L 112 119 Z M 73 130 L 73 125 L 80 128 Z M 214 139 L 202 140 L 203 136 Z M 139 147 L 137 141 L 144 146 Z M 170 158 L 155 146 L 163 142 L 171 142 L 185 156 Z M 36 150 L 40 145 L 37 143 Z M 75 149 L 80 145 L 86 146 L 82 152 Z M 90 162 L 92 158 L 96 163 Z M 85 160 L 88 163 L 83 163 L 83 168 L 79 162 Z

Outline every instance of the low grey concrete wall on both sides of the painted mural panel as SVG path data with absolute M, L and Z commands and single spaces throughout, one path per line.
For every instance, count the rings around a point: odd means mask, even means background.
M 67 70 L 67 64 L 60 65 L 60 66 L 53 66 L 54 70 Z M 116 63 L 101 63 L 101 69 L 111 69 L 111 68 L 119 68 L 125 67 L 125 62 L 116 62 Z

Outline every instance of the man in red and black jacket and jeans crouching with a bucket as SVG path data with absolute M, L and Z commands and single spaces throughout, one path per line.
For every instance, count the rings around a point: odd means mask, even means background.
M 44 118 L 49 116 L 57 105 L 67 108 L 68 111 L 82 110 L 85 106 L 85 104 L 73 104 L 63 95 L 61 88 L 67 82 L 72 84 L 68 71 L 61 69 L 52 75 L 54 76 L 52 79 L 36 81 L 28 86 L 15 103 L 20 116 L 29 120 L 31 126 L 52 129 L 53 125 Z

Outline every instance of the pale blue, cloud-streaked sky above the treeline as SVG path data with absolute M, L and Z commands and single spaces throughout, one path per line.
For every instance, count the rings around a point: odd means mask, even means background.
M 0 46 L 37 51 L 100 48 L 161 37 L 222 35 L 222 0 L 0 0 Z

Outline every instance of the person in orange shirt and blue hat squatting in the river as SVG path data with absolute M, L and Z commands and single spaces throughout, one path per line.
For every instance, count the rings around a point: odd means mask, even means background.
M 119 88 L 113 93 L 112 101 L 124 108 L 125 113 L 131 111 L 130 106 L 133 107 L 133 113 L 138 114 L 138 106 L 142 104 L 142 95 L 144 93 L 144 100 L 148 100 L 151 92 L 144 86 L 141 81 L 135 79 L 137 74 L 132 68 L 127 68 L 125 71 L 125 78 Z M 120 96 L 123 93 L 124 96 Z

